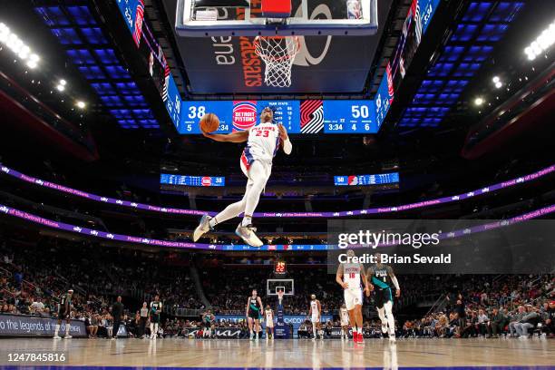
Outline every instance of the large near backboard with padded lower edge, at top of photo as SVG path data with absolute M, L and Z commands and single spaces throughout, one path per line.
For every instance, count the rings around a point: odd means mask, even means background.
M 331 0 L 324 6 L 321 0 L 292 0 L 291 15 L 284 19 L 265 17 L 261 2 L 244 0 L 237 2 L 239 6 L 206 6 L 218 2 L 178 0 L 176 33 L 184 37 L 363 36 L 375 34 L 378 29 L 377 0 Z M 219 3 L 229 5 L 236 1 Z M 241 6 L 242 3 L 248 6 Z

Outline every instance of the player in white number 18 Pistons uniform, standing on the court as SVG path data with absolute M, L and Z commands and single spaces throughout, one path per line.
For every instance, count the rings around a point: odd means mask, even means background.
M 349 249 L 347 258 L 355 257 L 355 251 Z M 370 287 L 365 276 L 365 267 L 362 263 L 341 263 L 337 268 L 336 282 L 344 289 L 345 306 L 349 313 L 349 321 L 353 328 L 353 341 L 363 343 L 363 289 L 360 282 L 365 285 L 366 296 L 370 294 Z

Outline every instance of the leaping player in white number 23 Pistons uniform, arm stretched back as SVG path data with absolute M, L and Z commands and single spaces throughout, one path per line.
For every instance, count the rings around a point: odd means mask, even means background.
M 247 190 L 242 200 L 230 204 L 214 218 L 205 215 L 193 233 L 193 241 L 216 225 L 228 219 L 238 217 L 244 213 L 243 220 L 235 230 L 239 238 L 252 247 L 261 247 L 262 241 L 256 235 L 256 228 L 252 226 L 252 215 L 257 208 L 260 194 L 266 187 L 272 171 L 272 161 L 281 146 L 286 154 L 293 150 L 287 130 L 282 124 L 274 124 L 274 112 L 267 107 L 260 113 L 260 123 L 248 131 L 235 131 L 229 134 L 214 134 L 203 132 L 203 135 L 214 141 L 244 142 L 247 146 L 241 155 L 241 170 L 247 176 Z

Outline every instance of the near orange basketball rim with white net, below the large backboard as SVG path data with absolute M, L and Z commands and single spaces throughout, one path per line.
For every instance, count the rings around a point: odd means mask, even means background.
M 254 46 L 266 63 L 264 83 L 274 87 L 291 86 L 291 69 L 300 50 L 298 36 L 257 36 Z

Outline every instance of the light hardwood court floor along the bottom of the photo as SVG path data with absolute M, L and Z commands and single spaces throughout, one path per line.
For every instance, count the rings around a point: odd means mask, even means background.
M 364 346 L 341 340 L 1 339 L 0 365 L 15 365 L 5 355 L 12 351 L 66 351 L 69 362 L 64 365 L 89 366 L 555 367 L 555 340 L 538 338 L 399 339 L 394 345 L 370 339 Z

